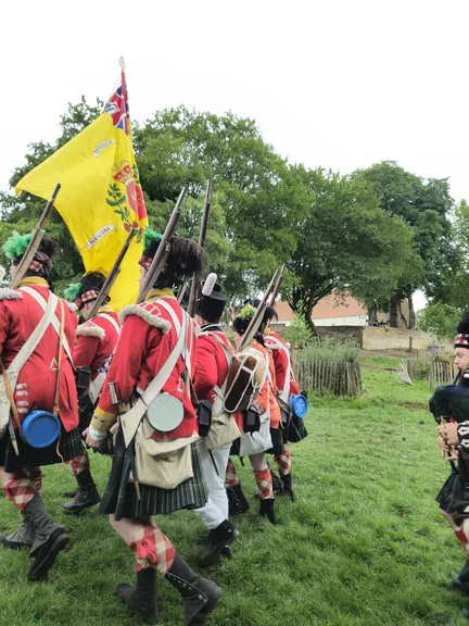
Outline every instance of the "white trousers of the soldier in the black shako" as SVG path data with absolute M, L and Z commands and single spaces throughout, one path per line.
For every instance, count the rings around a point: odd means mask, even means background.
M 225 489 L 226 466 L 231 443 L 207 450 L 202 443 L 200 454 L 202 472 L 208 491 L 208 500 L 202 509 L 195 509 L 205 526 L 213 530 L 228 519 L 228 497 Z

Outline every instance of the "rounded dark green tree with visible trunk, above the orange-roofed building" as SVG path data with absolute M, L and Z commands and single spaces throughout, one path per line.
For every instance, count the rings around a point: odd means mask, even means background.
M 389 293 L 415 261 L 413 235 L 403 220 L 384 213 L 371 187 L 358 177 L 296 168 L 308 210 L 299 224 L 288 263 L 290 305 L 312 322 L 314 306 L 333 290 L 364 301 Z

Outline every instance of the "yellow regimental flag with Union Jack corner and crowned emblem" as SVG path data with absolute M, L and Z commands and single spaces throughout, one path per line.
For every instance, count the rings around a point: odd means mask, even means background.
M 111 290 L 116 311 L 134 303 L 148 218 L 132 149 L 124 72 L 121 86 L 98 120 L 26 174 L 16 192 L 48 199 L 56 183 L 62 188 L 54 205 L 87 272 L 107 273 L 130 229 L 137 230 Z

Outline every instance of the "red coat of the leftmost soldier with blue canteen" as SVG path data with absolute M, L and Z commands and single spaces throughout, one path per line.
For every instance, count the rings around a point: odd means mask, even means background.
M 25 278 L 21 286 L 26 285 L 38 291 L 45 300 L 49 300 L 50 289 L 43 278 Z M 75 341 L 77 318 L 69 311 L 67 302 L 63 301 L 63 304 L 65 337 L 72 349 Z M 39 324 L 42 315 L 42 308 L 33 296 L 21 289 L 0 290 L 0 353 L 7 368 Z M 61 320 L 59 302 L 55 315 L 58 320 Z M 33 409 L 52 412 L 58 376 L 58 356 L 59 337 L 50 325 L 20 372 L 14 397 L 21 420 Z M 78 426 L 78 404 L 73 365 L 64 349 L 62 349 L 59 403 L 59 417 L 65 430 L 69 431 Z

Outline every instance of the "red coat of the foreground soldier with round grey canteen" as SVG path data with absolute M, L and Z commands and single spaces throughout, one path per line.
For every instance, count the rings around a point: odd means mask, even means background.
M 156 298 L 163 298 L 174 310 L 179 322 L 182 320 L 182 309 L 173 296 L 170 289 L 150 291 L 148 300 L 141 304 L 131 304 L 121 311 L 123 327 L 121 338 L 107 371 L 106 381 L 91 426 L 97 430 L 107 430 L 115 422 L 117 408 L 113 405 L 109 383 L 115 384 L 121 402 L 127 403 L 135 390 L 144 391 L 153 380 L 177 342 L 177 334 L 169 313 L 159 306 Z M 195 333 L 191 321 L 188 331 L 187 350 L 192 364 L 195 362 Z M 193 365 L 192 365 L 193 370 Z M 155 430 L 154 439 L 177 439 L 191 437 L 197 433 L 195 410 L 191 402 L 190 390 L 185 384 L 185 364 L 179 356 L 163 391 L 177 398 L 183 405 L 183 420 L 170 433 Z

